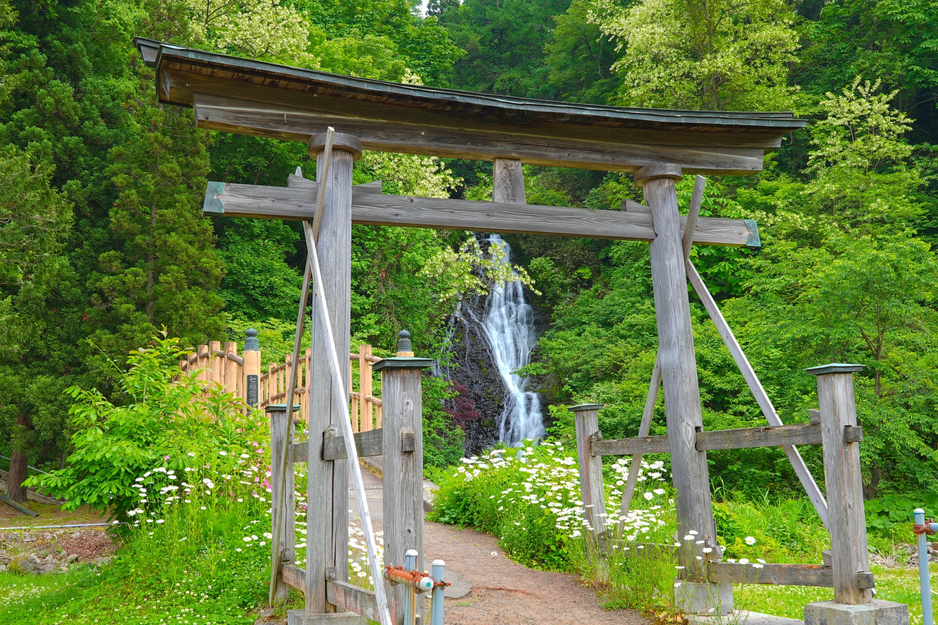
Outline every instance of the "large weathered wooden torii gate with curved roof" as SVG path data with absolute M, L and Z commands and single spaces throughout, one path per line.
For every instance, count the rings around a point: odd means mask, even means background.
M 693 216 L 686 228 L 688 217 L 678 214 L 674 185 L 689 173 L 761 171 L 764 155 L 779 147 L 786 133 L 805 126 L 803 120 L 788 112 L 648 110 L 474 94 L 274 65 L 140 37 L 134 43 L 144 64 L 156 70 L 159 101 L 192 108 L 197 126 L 303 141 L 310 156 L 317 158 L 320 183 L 296 175 L 289 177 L 286 187 L 209 183 L 206 216 L 312 220 L 323 184 L 325 129 L 334 126 L 338 130 L 322 189 L 322 236 L 317 249 L 335 349 L 341 354 L 349 348 L 353 223 L 647 241 L 658 319 L 656 370 L 664 386 L 667 448 L 679 493 L 677 520 L 681 528 L 695 528 L 703 540 L 701 545 L 679 550 L 678 558 L 686 567 L 685 575 L 703 574 L 703 560 L 697 556 L 712 559 L 718 557 L 718 550 L 703 551 L 704 546 L 716 546 L 717 536 L 706 452 L 698 444 L 703 421 L 688 275 L 702 297 L 703 282 L 693 266 L 686 264 L 685 247 L 691 243 L 758 247 L 760 241 L 756 224 L 749 219 L 700 217 L 694 224 Z M 494 201 L 385 195 L 380 183 L 353 186 L 353 163 L 363 149 L 493 160 Z M 624 202 L 623 211 L 530 205 L 524 199 L 522 163 L 629 171 L 643 186 L 645 204 Z M 712 298 L 704 300 L 708 309 L 711 303 Z M 712 308 L 711 317 L 719 323 L 719 310 L 716 305 Z M 751 367 L 743 365 L 745 356 L 728 326 L 720 330 L 769 424 L 781 425 Z M 312 349 L 314 354 L 326 353 L 321 335 L 313 334 Z M 310 401 L 310 440 L 322 439 L 340 420 L 348 419 L 330 400 L 334 385 L 325 381 L 331 379 L 329 368 L 325 358 L 317 358 L 311 379 L 322 381 Z M 347 360 L 343 366 L 348 366 Z M 348 379 L 348 370 L 343 369 L 342 375 Z M 658 379 L 653 383 L 657 394 Z M 786 443 L 772 439 L 767 444 L 784 445 L 809 498 L 828 523 L 823 495 L 794 446 Z M 332 581 L 347 581 L 348 539 L 340 528 L 348 523 L 348 469 L 344 459 L 324 460 L 318 444 L 310 444 L 308 453 L 308 501 L 310 506 L 322 502 L 331 510 L 332 530 L 323 536 L 309 530 L 306 613 L 302 618 L 291 613 L 291 622 L 335 622 L 348 616 L 334 614 L 337 610 L 354 609 L 351 604 L 328 603 L 326 597 L 327 568 L 334 567 L 328 573 Z M 641 449 L 628 453 L 641 453 Z M 851 504 L 855 505 L 853 499 Z M 862 508 L 862 500 L 859 505 Z M 862 533 L 859 551 L 865 554 Z M 702 582 L 702 587 L 708 588 L 707 584 Z M 709 591 L 703 594 L 717 596 Z M 856 588 L 851 603 L 870 600 L 870 590 Z M 874 615 L 868 622 L 879 620 Z

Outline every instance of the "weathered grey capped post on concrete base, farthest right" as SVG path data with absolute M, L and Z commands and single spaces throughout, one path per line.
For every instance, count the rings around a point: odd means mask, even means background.
M 859 588 L 856 576 L 856 573 L 870 571 L 860 446 L 855 442 L 844 442 L 844 428 L 856 426 L 852 371 L 859 368 L 858 365 L 841 365 L 839 370 L 817 377 L 834 600 L 851 605 L 870 603 L 872 599 L 870 589 Z M 811 372 L 810 369 L 808 371 Z

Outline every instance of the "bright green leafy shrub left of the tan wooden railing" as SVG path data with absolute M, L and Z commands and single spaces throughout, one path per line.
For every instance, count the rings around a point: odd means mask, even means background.
M 263 418 L 218 384 L 183 373 L 178 363 L 189 351 L 179 350 L 178 342 L 164 331 L 151 348 L 130 352 L 120 379 L 127 406 L 115 406 L 97 389 L 69 388 L 76 400 L 68 411 L 75 451 L 65 469 L 26 484 L 66 499 L 66 509 L 87 504 L 124 520 L 137 505 L 141 484 L 135 480 L 148 470 L 182 470 L 192 458 L 205 458 L 212 469 L 227 464 L 233 472 L 236 456 L 265 431 Z

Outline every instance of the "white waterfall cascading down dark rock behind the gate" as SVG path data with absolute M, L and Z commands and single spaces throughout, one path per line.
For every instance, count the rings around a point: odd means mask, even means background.
M 491 246 L 501 247 L 502 262 L 510 267 L 511 247 L 507 242 L 497 234 L 490 235 L 487 241 Z M 528 380 L 512 373 L 531 362 L 531 350 L 537 343 L 534 316 L 531 306 L 524 302 L 520 280 L 493 286 L 486 300 L 482 327 L 506 390 L 505 408 L 498 419 L 498 439 L 508 445 L 519 445 L 523 439 L 544 436 L 537 393 L 526 391 Z

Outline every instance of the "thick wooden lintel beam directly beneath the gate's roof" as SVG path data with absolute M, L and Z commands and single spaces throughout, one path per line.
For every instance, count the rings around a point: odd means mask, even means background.
M 202 88 L 226 89 L 220 84 Z M 688 172 L 748 175 L 762 170 L 765 154 L 764 147 L 703 144 L 719 141 L 720 138 L 713 136 L 715 134 L 730 133 L 694 133 L 692 136 L 684 133 L 683 145 L 656 145 L 640 142 L 642 140 L 636 133 L 631 133 L 632 137 L 623 137 L 635 142 L 613 142 L 613 135 L 608 128 L 603 129 L 605 132 L 591 132 L 583 126 L 579 127 L 578 135 L 561 138 L 544 132 L 512 132 L 511 128 L 504 125 L 495 131 L 468 128 L 464 120 L 461 120 L 462 126 L 459 127 L 432 126 L 425 115 L 409 122 L 389 124 L 383 120 L 363 120 L 348 114 L 351 107 L 355 106 L 354 99 L 341 98 L 345 107 L 343 112 L 311 111 L 284 105 L 284 96 L 292 94 L 284 94 L 283 90 L 274 94 L 280 98 L 280 102 L 257 104 L 243 99 L 242 85 L 239 84 L 237 89 L 241 93 L 235 97 L 206 96 L 200 93 L 190 96 L 189 101 L 194 99 L 196 125 L 212 130 L 304 142 L 311 135 L 323 132 L 325 126 L 335 126 L 341 132 L 360 137 L 366 150 L 485 160 L 507 157 L 518 158 L 528 165 L 606 171 L 635 171 L 659 160 L 669 160 L 681 164 Z M 264 94 L 257 96 L 264 97 Z M 325 98 L 320 101 L 325 101 Z M 547 130 L 550 126 L 541 127 Z M 591 134 L 593 137 L 587 139 Z M 734 141 L 733 135 L 724 141 Z M 747 139 L 751 141 L 754 136 L 749 135 Z M 654 140 L 655 137 L 653 133 L 646 132 L 643 140 Z M 673 137 L 676 141 L 677 134 L 674 133 Z

